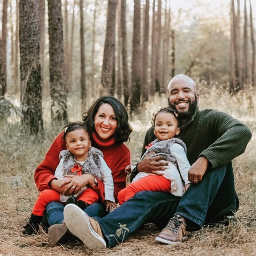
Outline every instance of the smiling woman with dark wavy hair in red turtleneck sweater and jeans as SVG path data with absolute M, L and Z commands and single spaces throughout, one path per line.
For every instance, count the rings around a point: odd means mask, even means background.
M 125 107 L 116 98 L 103 96 L 90 106 L 87 114 L 83 114 L 82 121 L 88 127 L 92 137 L 92 146 L 102 151 L 106 164 L 112 170 L 114 197 L 117 201 L 118 192 L 126 186 L 125 167 L 130 164 L 130 151 L 123 142 L 129 140 L 129 135 L 133 130 L 128 123 Z M 104 184 L 95 179 L 93 175 L 75 175 L 61 180 L 54 176 L 55 169 L 59 164 L 59 153 L 65 149 L 62 132 L 55 138 L 43 162 L 35 170 L 35 183 L 39 191 L 51 188 L 71 196 L 80 191 L 84 185 L 88 185 L 101 195 Z M 48 204 L 46 215 L 49 225 L 63 224 L 63 209 L 63 204 L 57 202 Z M 87 207 L 86 212 L 90 216 L 105 214 L 102 212 L 102 207 L 97 203 Z M 61 229 L 61 231 L 57 230 L 61 233 L 60 237 L 56 235 L 55 228 L 49 230 L 53 242 L 59 242 L 64 233 L 67 232 L 65 225 L 56 229 Z M 53 232 L 52 236 L 51 231 Z

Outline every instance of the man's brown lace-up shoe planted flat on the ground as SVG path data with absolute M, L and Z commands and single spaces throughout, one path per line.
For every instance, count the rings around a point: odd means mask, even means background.
M 167 244 L 180 243 L 186 234 L 186 224 L 181 220 L 180 215 L 174 215 L 164 228 L 155 238 L 156 241 Z

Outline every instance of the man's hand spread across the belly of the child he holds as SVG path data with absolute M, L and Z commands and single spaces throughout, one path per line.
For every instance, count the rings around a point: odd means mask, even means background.
M 137 164 L 137 171 L 138 172 L 147 172 L 148 174 L 156 174 L 156 175 L 164 175 L 163 173 L 160 173 L 158 171 L 164 171 L 168 168 L 168 162 L 167 161 L 161 161 L 164 160 L 162 156 L 154 156 L 153 158 L 150 157 L 150 155 L 155 154 L 155 152 L 151 152 L 150 154 L 147 154 L 141 162 Z

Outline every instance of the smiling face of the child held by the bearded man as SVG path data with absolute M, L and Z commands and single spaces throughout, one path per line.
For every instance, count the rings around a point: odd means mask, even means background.
M 166 112 L 160 112 L 156 115 L 154 128 L 154 133 L 159 141 L 174 138 L 180 133 L 176 117 Z

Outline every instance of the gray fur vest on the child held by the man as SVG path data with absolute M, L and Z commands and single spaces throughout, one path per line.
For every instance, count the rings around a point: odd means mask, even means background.
M 187 147 L 181 139 L 178 138 L 172 138 L 172 139 L 167 139 L 166 141 L 159 141 L 159 139 L 155 139 L 155 141 L 151 142 L 152 144 L 151 147 L 147 148 L 146 152 L 142 156 L 141 160 L 149 153 L 155 152 L 156 154 L 150 155 L 150 157 L 154 156 L 162 156 L 164 160 L 167 160 L 168 162 L 172 162 L 175 164 L 175 166 L 179 170 L 179 166 L 177 164 L 177 160 L 175 156 L 172 154 L 170 150 L 170 146 L 174 143 L 180 144 L 185 150 L 185 153 L 187 154 Z

